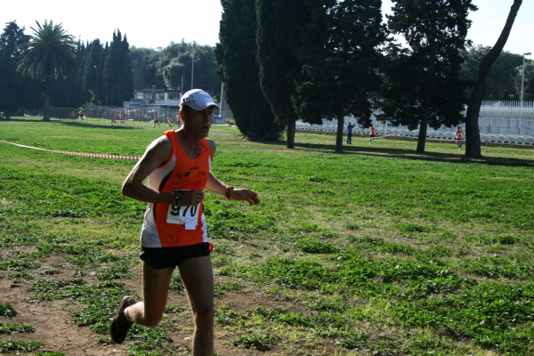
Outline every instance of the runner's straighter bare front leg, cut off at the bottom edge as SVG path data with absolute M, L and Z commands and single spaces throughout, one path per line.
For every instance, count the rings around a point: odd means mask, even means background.
M 214 272 L 209 256 L 185 260 L 180 265 L 183 285 L 190 298 L 195 334 L 193 355 L 211 356 L 214 350 Z

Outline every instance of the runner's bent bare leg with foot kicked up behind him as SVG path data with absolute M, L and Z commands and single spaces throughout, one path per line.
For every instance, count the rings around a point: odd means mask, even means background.
M 169 283 L 174 269 L 157 270 L 142 263 L 143 301 L 127 309 L 128 318 L 136 324 L 156 328 L 165 312 Z

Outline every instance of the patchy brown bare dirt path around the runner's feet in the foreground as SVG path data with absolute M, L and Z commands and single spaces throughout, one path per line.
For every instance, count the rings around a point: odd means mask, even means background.
M 134 281 L 128 281 L 128 284 L 138 294 Z M 64 352 L 66 355 L 125 355 L 125 349 L 128 344 L 134 344 L 127 341 L 125 344 L 99 344 L 97 343 L 101 335 L 94 333 L 87 327 L 77 327 L 72 321 L 72 315 L 69 309 L 76 304 L 69 300 L 56 300 L 52 302 L 28 303 L 26 298 L 33 295 L 33 292 L 27 290 L 25 286 L 13 284 L 10 279 L 0 279 L 0 303 L 10 303 L 17 312 L 13 318 L 0 317 L 0 321 L 5 323 L 24 323 L 32 325 L 35 333 L 27 334 L 0 334 L 0 341 L 6 339 L 15 339 L 22 341 L 40 341 L 45 346 L 38 352 Z M 231 303 L 232 310 L 247 311 L 257 305 L 263 305 L 266 308 L 287 307 L 282 303 L 271 298 L 267 298 L 261 292 L 250 291 L 250 293 L 224 295 L 223 301 Z M 185 295 L 170 295 L 169 304 L 183 305 L 189 308 L 189 302 Z M 216 303 L 218 303 L 216 301 Z M 169 317 L 167 317 L 169 318 Z M 164 319 L 165 321 L 165 319 Z M 180 346 L 182 353 L 190 354 L 187 348 L 191 344 L 193 324 L 192 320 L 187 318 L 182 325 L 184 331 L 171 334 L 174 346 Z M 223 328 L 215 328 L 215 352 L 220 356 L 248 356 L 248 355 L 279 355 L 284 354 L 280 349 L 273 347 L 269 351 L 258 352 L 255 350 L 239 349 L 231 345 L 231 340 L 235 337 L 231 332 Z M 35 354 L 34 352 L 12 352 L 12 354 Z

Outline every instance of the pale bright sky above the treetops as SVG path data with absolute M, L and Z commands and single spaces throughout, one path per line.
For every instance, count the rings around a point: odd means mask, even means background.
M 290 0 L 288 0 L 290 1 Z M 513 0 L 473 0 L 479 10 L 472 12 L 468 38 L 473 44 L 493 46 L 505 25 Z M 383 0 L 383 12 L 391 8 Z M 99 38 L 111 42 L 120 30 L 131 46 L 164 48 L 171 42 L 195 41 L 214 45 L 219 41 L 223 8 L 219 0 L 159 0 L 147 3 L 117 0 L 72 2 L 66 0 L 0 0 L 0 24 L 15 20 L 19 27 L 36 26 L 36 20 L 62 22 L 63 28 L 84 42 Z M 523 0 L 514 27 L 505 45 L 511 53 L 534 53 L 534 0 Z M 530 58 L 534 58 L 530 56 Z

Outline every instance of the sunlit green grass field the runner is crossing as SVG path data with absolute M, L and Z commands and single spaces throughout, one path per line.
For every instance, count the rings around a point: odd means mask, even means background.
M 141 156 L 164 131 L 98 124 L 2 120 L 0 140 Z M 206 193 L 216 355 L 534 354 L 534 150 L 466 159 L 454 143 L 416 154 L 356 137 L 335 154 L 335 136 L 296 134 L 287 150 L 230 126 L 210 138 L 214 174 L 261 199 Z M 146 205 L 120 194 L 133 166 L 0 142 L 1 352 L 80 354 L 43 334 L 61 328 L 85 333 L 84 354 L 190 354 L 178 276 L 161 325 L 110 344 L 118 300 L 142 297 Z

